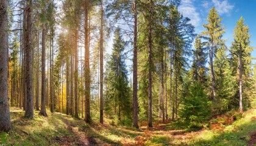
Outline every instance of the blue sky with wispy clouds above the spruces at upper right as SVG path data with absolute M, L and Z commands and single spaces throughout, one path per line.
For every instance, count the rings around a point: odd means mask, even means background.
M 191 19 L 191 24 L 196 27 L 196 33 L 200 33 L 204 30 L 202 24 L 207 23 L 207 15 L 212 7 L 218 10 L 222 18 L 222 24 L 226 30 L 224 39 L 227 46 L 230 46 L 233 41 L 236 21 L 243 16 L 252 35 L 251 46 L 256 47 L 256 0 L 182 0 L 179 10 L 183 16 Z M 256 57 L 256 49 L 252 51 L 252 57 Z

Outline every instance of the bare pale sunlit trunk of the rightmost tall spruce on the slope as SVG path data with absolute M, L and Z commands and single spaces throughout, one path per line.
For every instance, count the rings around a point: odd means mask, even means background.
M 243 77 L 243 72 L 242 72 L 242 51 L 241 51 L 241 45 L 240 45 L 240 54 L 239 54 L 239 109 L 240 113 L 243 113 L 243 92 L 242 92 L 242 77 Z

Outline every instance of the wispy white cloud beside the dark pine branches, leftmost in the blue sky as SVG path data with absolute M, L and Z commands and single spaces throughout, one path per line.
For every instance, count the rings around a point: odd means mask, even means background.
M 183 16 L 191 19 L 191 24 L 194 26 L 200 25 L 201 18 L 199 13 L 196 11 L 196 7 L 194 6 L 194 0 L 182 0 L 179 10 Z

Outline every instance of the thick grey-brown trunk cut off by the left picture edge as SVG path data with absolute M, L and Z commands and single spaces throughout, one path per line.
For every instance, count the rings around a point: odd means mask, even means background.
M 7 1 L 0 1 L 0 131 L 11 130 L 8 99 Z

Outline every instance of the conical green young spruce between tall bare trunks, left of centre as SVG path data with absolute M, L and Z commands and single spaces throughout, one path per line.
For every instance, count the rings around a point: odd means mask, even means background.
M 120 29 L 116 29 L 113 52 L 107 62 L 107 96 L 105 106 L 106 112 L 121 120 L 123 116 L 130 116 L 130 87 L 127 78 L 126 54 L 124 54 L 125 42 L 120 35 Z M 113 105 L 112 107 L 110 105 Z M 112 111 L 112 112 L 111 112 Z

